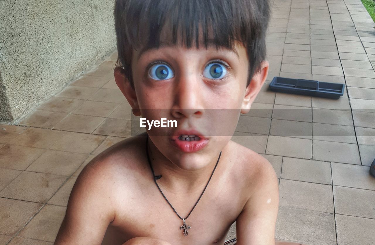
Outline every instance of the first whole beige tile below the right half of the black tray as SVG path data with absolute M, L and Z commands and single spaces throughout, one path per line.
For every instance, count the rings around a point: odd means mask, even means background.
M 334 125 L 353 126 L 351 111 L 312 109 L 312 121 Z

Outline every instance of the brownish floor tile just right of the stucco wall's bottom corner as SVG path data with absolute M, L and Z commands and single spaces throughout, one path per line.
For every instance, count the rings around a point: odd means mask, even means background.
M 52 128 L 67 115 L 68 113 L 34 110 L 19 124 L 38 128 Z

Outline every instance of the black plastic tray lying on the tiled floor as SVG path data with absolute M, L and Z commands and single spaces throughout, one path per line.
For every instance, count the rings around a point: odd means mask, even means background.
M 274 77 L 270 89 L 276 92 L 310 95 L 330 99 L 338 99 L 344 95 L 344 84 L 326 83 L 315 80 Z

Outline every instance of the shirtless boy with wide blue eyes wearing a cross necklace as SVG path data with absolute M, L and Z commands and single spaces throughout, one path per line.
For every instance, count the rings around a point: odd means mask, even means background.
M 115 1 L 115 81 L 134 115 L 177 127 L 96 156 L 55 244 L 222 245 L 235 221 L 238 245 L 275 244 L 275 171 L 231 141 L 267 77 L 269 15 L 267 0 Z

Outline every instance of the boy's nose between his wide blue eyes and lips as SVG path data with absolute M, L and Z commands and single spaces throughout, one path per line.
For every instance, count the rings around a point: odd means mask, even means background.
M 190 72 L 190 74 L 181 74 L 176 82 L 172 115 L 175 118 L 201 117 L 204 113 L 202 87 L 204 83 L 201 77 Z

